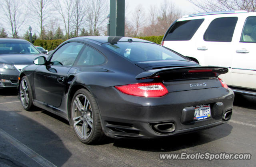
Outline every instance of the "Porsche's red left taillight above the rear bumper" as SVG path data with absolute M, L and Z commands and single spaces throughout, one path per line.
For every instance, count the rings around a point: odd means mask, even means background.
M 134 83 L 130 85 L 116 86 L 116 89 L 128 95 L 142 97 L 161 97 L 168 93 L 163 83 Z

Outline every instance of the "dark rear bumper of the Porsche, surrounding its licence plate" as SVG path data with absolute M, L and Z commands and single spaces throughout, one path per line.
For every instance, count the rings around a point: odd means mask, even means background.
M 102 94 L 102 91 L 106 93 Z M 126 95 L 114 87 L 93 93 L 100 108 L 104 132 L 114 138 L 165 137 L 214 127 L 227 122 L 222 117 L 232 110 L 234 101 L 233 91 L 224 87 L 169 92 L 164 97 L 153 98 Z M 182 111 L 203 104 L 210 104 L 212 117 L 193 121 L 187 118 L 191 112 Z M 222 105 L 216 107 L 217 104 Z M 152 123 L 165 122 L 173 123 L 175 130 L 159 133 L 152 128 Z

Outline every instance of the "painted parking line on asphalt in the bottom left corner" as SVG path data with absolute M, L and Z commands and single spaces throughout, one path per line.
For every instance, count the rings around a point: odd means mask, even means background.
M 9 143 L 14 145 L 16 148 L 18 148 L 20 151 L 28 155 L 28 157 L 32 158 L 34 161 L 36 161 L 38 164 L 42 165 L 43 167 L 56 167 L 53 163 L 30 149 L 28 146 L 24 145 L 8 133 L 6 133 L 3 129 L 0 128 L 0 135 L 4 139 L 6 139 Z

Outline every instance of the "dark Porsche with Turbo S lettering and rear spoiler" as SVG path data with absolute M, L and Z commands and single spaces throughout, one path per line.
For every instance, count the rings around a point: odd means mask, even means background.
M 79 37 L 20 72 L 24 109 L 64 117 L 83 143 L 104 136 L 154 138 L 226 123 L 234 93 L 218 76 L 158 44 L 127 37 Z

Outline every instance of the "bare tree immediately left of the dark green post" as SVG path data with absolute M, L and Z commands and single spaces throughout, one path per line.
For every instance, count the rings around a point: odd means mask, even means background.
M 89 34 L 99 35 L 108 15 L 108 3 L 106 0 L 87 0 L 86 5 Z

